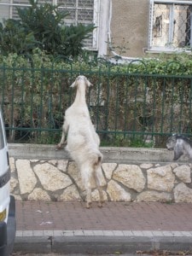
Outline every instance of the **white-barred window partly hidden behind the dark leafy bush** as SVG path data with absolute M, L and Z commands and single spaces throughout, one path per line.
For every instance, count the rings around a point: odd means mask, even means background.
M 67 25 L 82 23 L 88 25 L 94 23 L 98 27 L 100 0 L 39 0 L 39 4 L 59 4 L 60 10 L 67 10 L 69 15 L 65 18 Z M 18 19 L 16 7 L 27 8 L 30 6 L 28 0 L 2 0 L 0 2 L 0 21 L 3 19 Z M 90 34 L 90 38 L 84 42 L 84 47 L 97 49 L 98 28 Z

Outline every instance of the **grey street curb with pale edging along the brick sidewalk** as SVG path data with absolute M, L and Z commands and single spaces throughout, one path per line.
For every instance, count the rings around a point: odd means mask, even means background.
M 43 236 L 39 236 L 39 232 Z M 155 236 L 155 232 L 158 232 L 159 236 Z M 14 247 L 14 253 L 84 253 L 84 255 L 115 252 L 137 253 L 138 251 L 154 250 L 192 251 L 192 232 L 159 230 L 17 231 Z

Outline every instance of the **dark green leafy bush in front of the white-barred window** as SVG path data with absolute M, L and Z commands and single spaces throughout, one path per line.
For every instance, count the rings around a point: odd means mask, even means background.
M 0 52 L 32 54 L 32 49 L 45 50 L 49 55 L 77 57 L 82 54 L 83 41 L 90 37 L 93 24 L 67 26 L 64 22 L 67 11 L 58 10 L 59 5 L 29 0 L 31 6 L 17 8 L 19 20 L 0 23 Z

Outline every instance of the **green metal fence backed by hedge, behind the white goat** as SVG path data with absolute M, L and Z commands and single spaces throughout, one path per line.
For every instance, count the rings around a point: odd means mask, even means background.
M 131 63 L 130 65 L 135 65 Z M 164 147 L 172 133 L 192 131 L 192 77 L 131 73 L 101 65 L 35 68 L 17 61 L 0 66 L 0 102 L 8 141 L 58 143 L 63 114 L 73 102 L 70 84 L 84 74 L 94 85 L 87 95 L 102 145 Z

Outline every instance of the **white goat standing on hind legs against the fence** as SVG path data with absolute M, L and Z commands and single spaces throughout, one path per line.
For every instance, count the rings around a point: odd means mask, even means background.
M 99 207 L 102 207 L 103 193 L 101 186 L 102 153 L 99 150 L 100 138 L 90 120 L 89 109 L 86 104 L 85 94 L 90 81 L 84 76 L 79 76 L 71 87 L 77 87 L 75 100 L 71 107 L 67 108 L 62 125 L 61 142 L 57 148 L 65 143 L 66 149 L 76 162 L 81 173 L 82 182 L 86 189 L 86 207 L 91 205 L 91 177 L 94 177 L 99 191 Z

